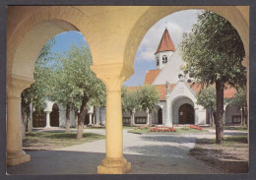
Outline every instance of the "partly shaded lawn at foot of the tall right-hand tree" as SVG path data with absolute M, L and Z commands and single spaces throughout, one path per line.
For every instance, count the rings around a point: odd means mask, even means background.
M 198 139 L 189 154 L 226 173 L 248 172 L 247 136 L 224 137 L 223 145 L 216 144 L 215 139 Z

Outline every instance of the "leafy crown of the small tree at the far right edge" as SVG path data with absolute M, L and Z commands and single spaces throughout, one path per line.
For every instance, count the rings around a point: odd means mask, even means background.
M 234 93 L 234 97 L 230 100 L 231 104 L 238 109 L 246 108 L 246 89 L 239 89 Z

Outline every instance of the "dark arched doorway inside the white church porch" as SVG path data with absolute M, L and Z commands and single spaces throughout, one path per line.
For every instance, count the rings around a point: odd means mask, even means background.
M 195 124 L 195 110 L 189 103 L 185 103 L 178 110 L 179 124 Z

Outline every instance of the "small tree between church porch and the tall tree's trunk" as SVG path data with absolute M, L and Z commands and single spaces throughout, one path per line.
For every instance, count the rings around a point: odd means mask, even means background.
M 210 124 L 214 124 L 214 114 L 216 112 L 216 90 L 208 87 L 199 91 L 196 96 L 197 104 L 202 105 L 210 113 Z

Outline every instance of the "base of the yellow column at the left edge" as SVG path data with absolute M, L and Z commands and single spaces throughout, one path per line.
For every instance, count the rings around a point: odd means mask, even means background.
M 19 152 L 7 152 L 7 165 L 17 165 L 31 161 L 31 155 L 26 154 L 24 150 Z

